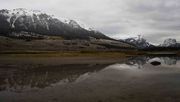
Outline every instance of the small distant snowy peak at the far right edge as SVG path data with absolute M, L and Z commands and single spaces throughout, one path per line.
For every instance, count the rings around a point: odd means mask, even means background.
M 176 39 L 168 38 L 164 40 L 163 44 L 160 45 L 161 47 L 180 47 L 180 43 L 176 41 Z

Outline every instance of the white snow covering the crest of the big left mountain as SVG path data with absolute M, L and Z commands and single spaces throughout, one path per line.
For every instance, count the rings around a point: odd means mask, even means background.
M 18 9 L 13 9 L 13 10 L 4 9 L 4 10 L 0 11 L 0 14 L 3 14 L 4 16 L 7 17 L 7 21 L 9 23 L 11 23 L 12 28 L 15 28 L 15 22 L 17 21 L 17 19 L 20 19 L 20 17 L 28 16 L 31 18 L 32 22 L 35 22 L 34 16 L 36 16 L 37 19 L 39 21 L 43 21 L 45 23 L 45 25 L 47 26 L 47 29 L 49 29 L 47 22 L 45 22 L 44 19 L 40 18 L 40 15 L 42 15 L 42 14 L 47 15 L 47 14 L 44 12 L 41 12 L 39 10 L 28 10 L 28 9 L 24 9 L 24 8 L 18 8 Z M 52 15 L 47 15 L 47 20 L 52 19 L 52 18 L 55 18 L 55 17 Z M 23 18 L 21 18 L 21 19 L 23 19 Z M 88 31 L 94 31 L 94 30 L 90 29 L 90 27 L 85 26 L 85 24 L 80 25 L 80 24 L 78 24 L 78 22 L 71 20 L 71 19 L 58 18 L 58 20 L 60 20 L 61 22 L 65 23 L 65 24 L 68 24 L 69 26 L 71 26 L 73 28 L 77 28 L 77 29 L 83 28 Z

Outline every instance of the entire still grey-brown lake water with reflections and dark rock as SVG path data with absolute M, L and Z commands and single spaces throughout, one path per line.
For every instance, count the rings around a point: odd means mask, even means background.
M 0 102 L 180 102 L 180 57 L 0 65 Z

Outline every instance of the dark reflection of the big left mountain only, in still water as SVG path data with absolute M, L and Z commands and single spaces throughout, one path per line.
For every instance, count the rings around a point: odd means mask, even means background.
M 0 66 L 0 91 L 22 92 L 83 80 L 107 65 Z M 83 77 L 83 78 L 81 78 Z

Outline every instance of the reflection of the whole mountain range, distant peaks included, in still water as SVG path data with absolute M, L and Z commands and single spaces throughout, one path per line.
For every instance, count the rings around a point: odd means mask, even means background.
M 141 69 L 144 65 L 157 61 L 163 65 L 176 65 L 179 57 L 131 57 L 117 64 L 75 64 L 61 66 L 0 66 L 0 91 L 23 92 L 32 89 L 44 89 L 56 85 L 66 85 L 86 80 L 102 69 Z

